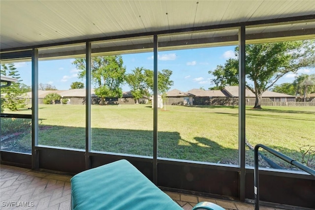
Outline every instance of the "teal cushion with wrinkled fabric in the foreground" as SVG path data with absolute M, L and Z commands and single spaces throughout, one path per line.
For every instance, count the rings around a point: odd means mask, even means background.
M 73 210 L 183 210 L 126 160 L 75 175 Z

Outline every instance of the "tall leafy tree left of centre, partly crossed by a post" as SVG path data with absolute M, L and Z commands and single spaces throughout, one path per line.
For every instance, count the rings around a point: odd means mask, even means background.
M 79 78 L 86 76 L 86 59 L 72 62 L 80 70 Z M 126 68 L 122 56 L 92 57 L 91 77 L 95 85 L 95 94 L 101 98 L 100 105 L 105 104 L 105 97 L 122 97 L 120 87 L 125 81 Z

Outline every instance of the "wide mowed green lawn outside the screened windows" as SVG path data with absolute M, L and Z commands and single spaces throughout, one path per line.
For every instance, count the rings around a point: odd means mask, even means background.
M 92 150 L 153 155 L 151 105 L 93 105 L 91 109 Z M 85 148 L 85 106 L 39 105 L 38 112 L 40 145 Z M 264 144 L 301 161 L 300 147 L 315 146 L 315 107 L 247 107 L 246 137 L 252 146 Z M 21 140 L 21 147 L 30 147 L 29 139 Z M 158 110 L 158 156 L 237 164 L 238 108 L 166 106 Z M 249 165 L 252 159 L 248 150 Z

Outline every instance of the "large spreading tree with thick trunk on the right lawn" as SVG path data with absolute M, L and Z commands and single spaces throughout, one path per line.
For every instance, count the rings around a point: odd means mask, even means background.
M 261 109 L 262 93 L 288 72 L 315 66 L 315 40 L 246 45 L 246 88 L 255 94 L 254 108 Z M 235 48 L 238 57 L 238 47 Z M 217 87 L 238 84 L 238 58 L 228 59 L 214 71 Z

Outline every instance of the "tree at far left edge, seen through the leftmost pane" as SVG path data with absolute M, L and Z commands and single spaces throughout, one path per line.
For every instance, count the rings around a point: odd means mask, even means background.
M 14 64 L 2 63 L 1 75 L 18 79 L 18 82 L 11 83 L 9 87 L 1 88 L 1 94 L 5 94 L 1 100 L 1 111 L 3 111 L 3 108 L 7 108 L 10 111 L 18 111 L 19 109 L 26 107 L 23 96 L 28 89 L 25 89 L 26 85 L 21 83 L 23 80 L 19 80 L 21 77 L 19 77 L 20 74 L 18 74 Z

